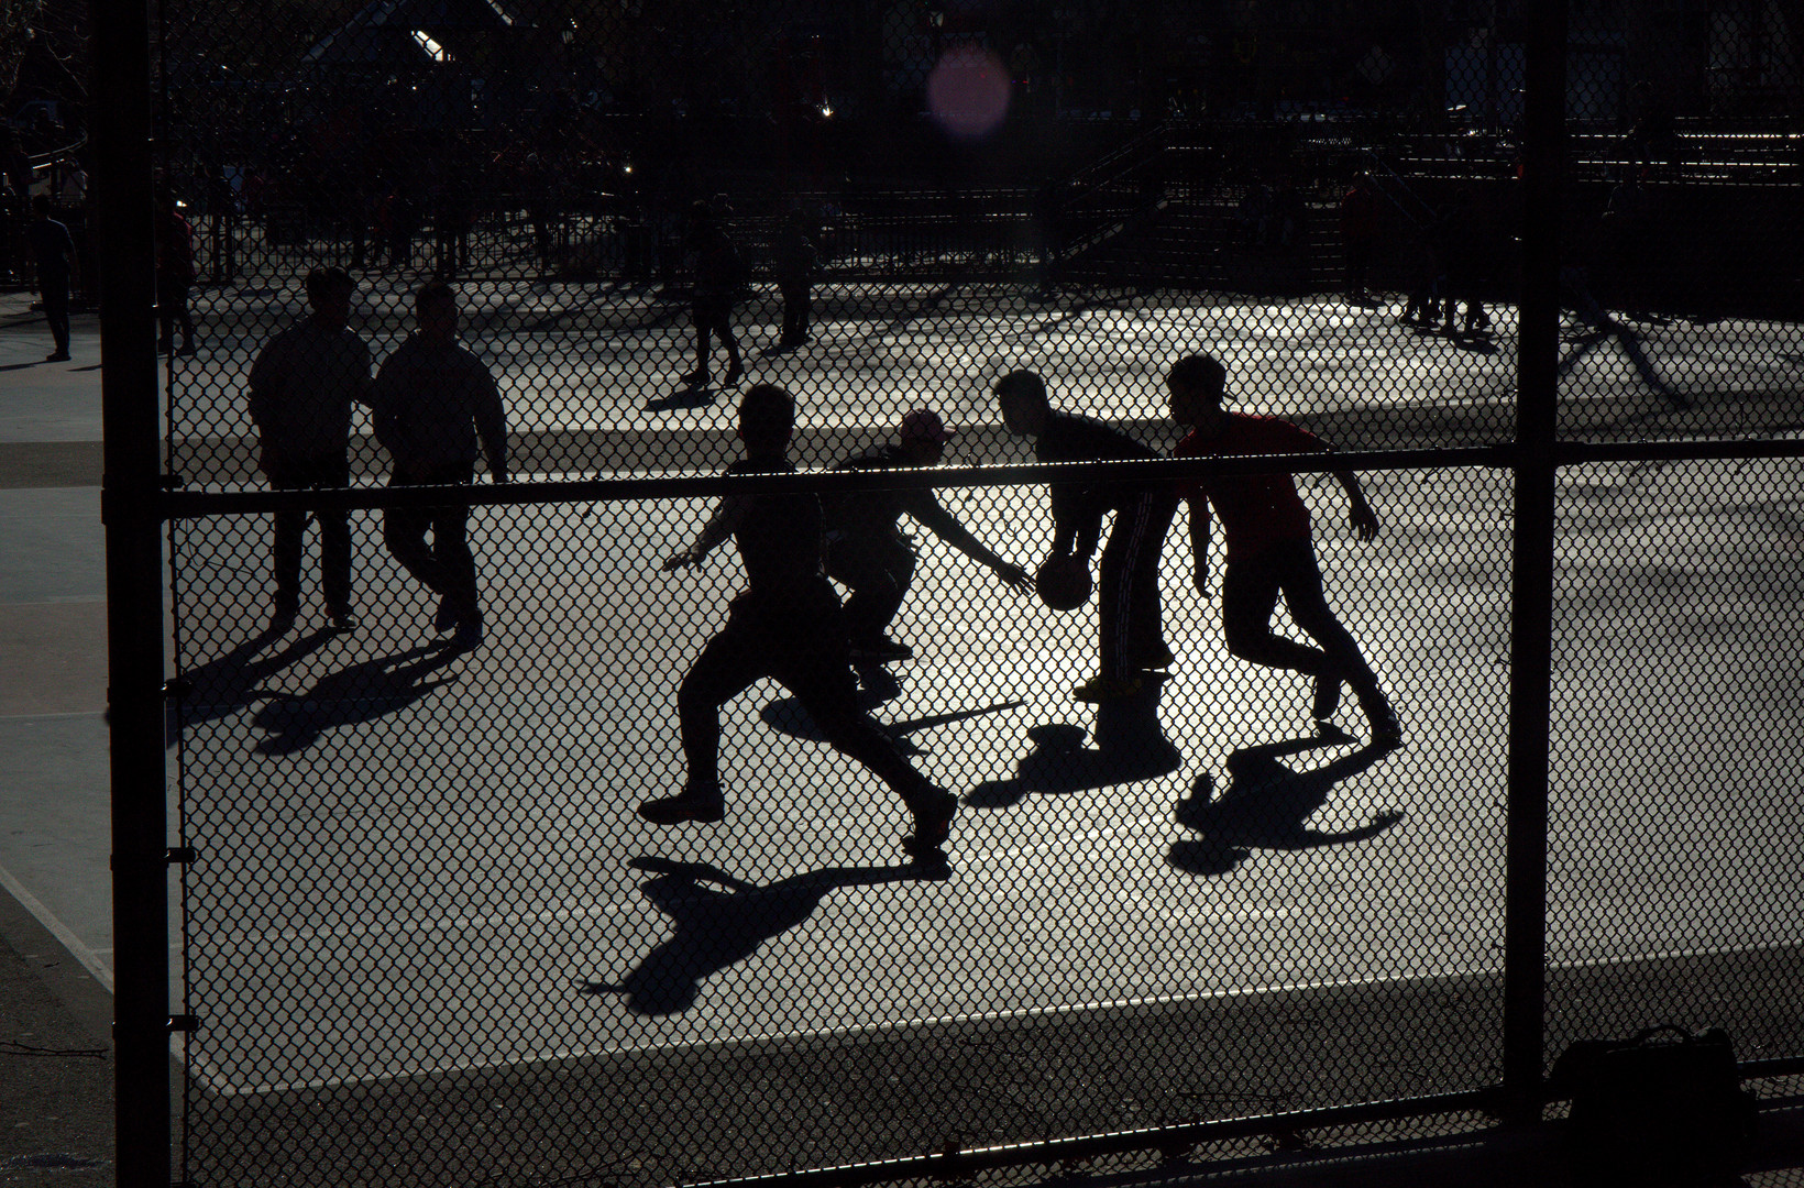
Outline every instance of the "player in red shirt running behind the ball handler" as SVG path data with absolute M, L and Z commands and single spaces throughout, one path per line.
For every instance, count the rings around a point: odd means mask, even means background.
M 1165 373 L 1171 416 L 1191 433 L 1178 443 L 1178 458 L 1230 454 L 1321 454 L 1331 447 L 1306 429 L 1275 416 L 1229 413 L 1227 368 L 1210 355 L 1185 355 Z M 1378 535 L 1378 516 L 1366 501 L 1351 471 L 1335 471 L 1353 505 L 1351 525 L 1360 541 Z M 1227 570 L 1221 575 L 1221 633 L 1229 653 L 1275 669 L 1295 669 L 1315 678 L 1317 727 L 1328 727 L 1340 707 L 1340 685 L 1353 687 L 1371 745 L 1394 750 L 1404 730 L 1391 710 L 1378 676 L 1366 663 L 1358 644 L 1335 618 L 1322 593 L 1315 561 L 1310 510 L 1297 496 L 1290 474 L 1236 474 L 1187 483 L 1182 496 L 1191 505 L 1191 555 L 1196 591 L 1209 591 L 1209 512 L 1221 517 L 1227 535 Z M 1272 633 L 1272 611 L 1284 595 L 1290 618 L 1319 647 Z

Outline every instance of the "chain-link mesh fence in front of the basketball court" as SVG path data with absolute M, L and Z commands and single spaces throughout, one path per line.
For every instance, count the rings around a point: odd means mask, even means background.
M 1795 1069 L 1795 65 L 1575 16 L 1535 272 L 1533 14 L 1293 7 L 161 5 L 180 1179 L 1458 1130 L 1512 977 Z

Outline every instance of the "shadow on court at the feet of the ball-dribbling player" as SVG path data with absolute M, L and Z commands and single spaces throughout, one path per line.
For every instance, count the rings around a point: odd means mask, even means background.
M 1032 793 L 1070 793 L 1090 788 L 1137 784 L 1176 772 L 1183 763 L 1158 723 L 1164 678 L 1149 676 L 1146 687 L 1097 707 L 1097 745 L 1084 745 L 1084 728 L 1054 721 L 1030 727 L 1034 748 L 1016 761 L 1014 779 L 987 781 L 971 790 L 972 808 L 1007 808 Z

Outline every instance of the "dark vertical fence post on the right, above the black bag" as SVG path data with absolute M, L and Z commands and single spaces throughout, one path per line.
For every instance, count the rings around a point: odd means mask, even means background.
M 1503 1092 L 1512 1123 L 1541 1118 L 1544 1044 L 1566 0 L 1530 0 L 1526 54 L 1503 943 Z

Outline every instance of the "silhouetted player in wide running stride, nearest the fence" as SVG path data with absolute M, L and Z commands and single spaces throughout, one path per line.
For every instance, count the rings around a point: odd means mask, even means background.
M 796 400 L 774 384 L 754 384 L 740 398 L 740 440 L 745 458 L 727 474 L 788 474 Z M 942 862 L 942 845 L 958 799 L 934 788 L 897 750 L 895 739 L 857 708 L 839 595 L 821 571 L 821 501 L 812 494 L 727 496 L 695 541 L 664 570 L 696 564 L 732 539 L 745 564 L 745 589 L 732 599 L 727 626 L 696 656 L 676 692 L 687 779 L 682 791 L 639 806 L 660 826 L 722 820 L 720 707 L 761 678 L 781 681 L 844 755 L 857 759 L 895 790 L 913 817 L 902 849 L 916 862 Z M 772 772 L 767 788 L 785 788 Z

